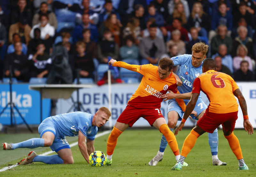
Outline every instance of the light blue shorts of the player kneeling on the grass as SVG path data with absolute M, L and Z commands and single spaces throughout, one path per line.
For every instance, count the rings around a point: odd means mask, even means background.
M 66 149 L 66 148 L 70 149 L 68 141 L 66 140 L 66 137 L 60 134 L 60 132 L 56 127 L 57 126 L 55 126 L 54 122 L 51 121 L 50 117 L 44 119 L 44 121 L 38 127 L 38 133 L 40 134 L 40 138 L 42 138 L 45 132 L 50 131 L 55 136 L 53 143 L 50 146 L 52 151 L 58 152 L 61 149 Z

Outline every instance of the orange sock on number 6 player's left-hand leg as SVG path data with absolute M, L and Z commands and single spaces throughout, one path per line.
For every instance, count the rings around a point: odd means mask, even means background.
M 200 135 L 192 129 L 183 143 L 180 155 L 187 157 L 188 153 L 196 144 L 196 140 L 199 136 Z

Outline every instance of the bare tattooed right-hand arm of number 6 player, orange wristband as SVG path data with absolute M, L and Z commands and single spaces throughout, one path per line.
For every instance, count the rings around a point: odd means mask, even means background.
M 244 99 L 244 96 L 242 94 L 242 92 L 240 91 L 239 88 L 237 88 L 233 94 L 237 97 L 238 101 L 239 101 L 239 104 L 240 104 L 240 107 L 242 109 L 242 112 L 243 112 L 243 116 L 245 117 L 244 119 L 244 130 L 247 132 L 248 131 L 248 134 L 253 134 L 253 127 L 252 127 L 252 124 L 250 123 L 249 121 L 249 118 L 248 118 L 248 113 L 247 113 L 247 104 L 245 102 L 245 99 Z

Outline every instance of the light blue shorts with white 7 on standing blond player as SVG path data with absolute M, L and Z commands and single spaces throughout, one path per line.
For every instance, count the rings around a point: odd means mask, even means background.
M 184 100 L 184 103 L 186 105 L 188 104 L 188 102 L 189 102 L 189 100 Z M 194 111 L 197 112 L 197 116 L 198 116 L 203 110 L 206 110 L 206 109 L 207 109 L 206 104 L 204 104 L 201 96 L 199 96 L 198 99 L 197 99 Z M 180 108 L 179 104 L 177 103 L 177 101 L 175 99 L 171 99 L 171 100 L 168 101 L 168 112 L 173 111 L 173 110 L 176 111 L 179 114 L 179 119 L 178 120 L 181 121 L 182 115 L 183 115 L 184 112 L 182 111 L 182 109 Z M 194 114 L 190 114 L 190 116 L 192 117 L 192 119 L 198 120 L 194 116 Z

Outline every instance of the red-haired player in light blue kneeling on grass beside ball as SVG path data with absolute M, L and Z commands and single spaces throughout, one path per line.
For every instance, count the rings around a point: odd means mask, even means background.
M 78 146 L 84 159 L 89 163 L 89 154 L 94 151 L 94 138 L 98 127 L 104 125 L 109 117 L 110 111 L 101 107 L 94 115 L 86 112 L 70 112 L 48 117 L 39 125 L 38 132 L 41 138 L 32 138 L 15 144 L 3 143 L 4 150 L 17 148 L 49 147 L 58 155 L 38 156 L 31 151 L 28 157 L 22 159 L 19 165 L 32 162 L 43 162 L 46 164 L 73 164 L 73 156 L 65 136 L 78 137 Z

